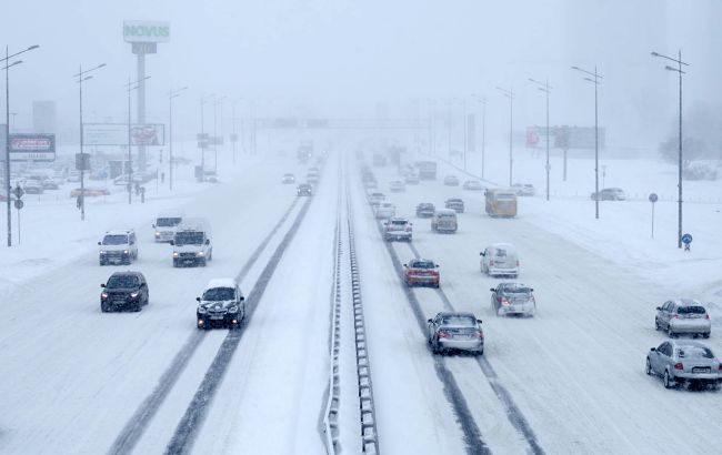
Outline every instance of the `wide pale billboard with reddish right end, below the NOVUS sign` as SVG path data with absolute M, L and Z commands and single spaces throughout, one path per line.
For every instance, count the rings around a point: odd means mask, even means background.
M 86 145 L 128 145 L 128 123 L 83 123 Z M 130 125 L 131 145 L 164 145 L 166 125 L 146 123 Z

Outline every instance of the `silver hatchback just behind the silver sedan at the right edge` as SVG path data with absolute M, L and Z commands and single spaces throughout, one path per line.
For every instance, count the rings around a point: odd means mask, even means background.
M 712 322 L 704 306 L 692 299 L 666 301 L 656 307 L 654 328 L 666 331 L 670 337 L 679 334 L 710 337 Z

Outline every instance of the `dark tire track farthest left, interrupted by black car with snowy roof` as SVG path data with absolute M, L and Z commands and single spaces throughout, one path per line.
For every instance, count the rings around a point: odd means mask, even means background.
M 237 275 L 237 280 L 239 282 L 245 277 L 270 241 L 273 239 L 273 236 L 275 236 L 283 223 L 285 223 L 285 220 L 288 220 L 295 205 L 298 205 L 298 198 L 293 200 L 285 213 L 283 213 L 283 216 L 281 216 L 275 226 L 273 226 L 273 230 L 271 230 L 271 232 L 255 249 L 253 254 L 248 259 Z M 141 436 L 143 435 L 146 428 L 148 427 L 148 424 L 153 418 L 161 404 L 163 404 L 166 397 L 178 382 L 178 378 L 188 366 L 190 358 L 193 356 L 197 347 L 201 344 L 205 332 L 203 331 L 193 331 L 191 333 L 181 350 L 173 357 L 173 361 L 170 363 L 166 372 L 163 372 L 161 375 L 160 380 L 158 381 L 158 385 L 156 385 L 156 388 L 153 388 L 153 392 L 151 392 L 151 394 L 146 400 L 143 400 L 141 405 L 130 417 L 118 437 L 116 437 L 116 441 L 108 451 L 109 455 L 130 454 L 133 451 Z

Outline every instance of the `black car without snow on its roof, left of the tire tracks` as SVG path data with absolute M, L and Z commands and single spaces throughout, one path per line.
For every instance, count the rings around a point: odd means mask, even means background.
M 116 272 L 101 284 L 100 310 L 103 313 L 114 310 L 140 311 L 150 299 L 148 282 L 140 272 Z

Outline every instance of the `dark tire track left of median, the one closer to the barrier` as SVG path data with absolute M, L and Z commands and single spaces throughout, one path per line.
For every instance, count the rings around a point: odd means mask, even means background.
M 305 203 L 299 211 L 299 214 L 297 215 L 295 220 L 293 221 L 291 229 L 285 233 L 283 240 L 277 246 L 268 264 L 265 265 L 265 267 L 263 267 L 261 275 L 255 282 L 255 285 L 249 293 L 247 299 L 247 313 L 245 313 L 245 321 L 243 323 L 243 326 L 248 325 L 249 321 L 253 316 L 258 303 L 263 296 L 263 293 L 265 292 L 265 287 L 271 281 L 271 277 L 273 276 L 273 272 L 275 272 L 275 267 L 278 266 L 279 261 L 283 256 L 285 249 L 293 240 L 299 226 L 301 225 L 301 222 L 305 218 L 305 213 L 308 212 L 309 206 L 311 205 L 311 201 L 312 201 L 311 198 L 309 198 L 305 201 Z M 215 357 L 213 358 L 211 366 L 205 372 L 205 376 L 203 377 L 203 381 L 198 387 L 195 395 L 193 395 L 193 400 L 188 405 L 188 408 L 185 410 L 183 417 L 181 418 L 180 423 L 176 427 L 173 437 L 171 438 L 171 441 L 168 443 L 168 446 L 166 447 L 166 454 L 169 455 L 187 454 L 190 453 L 190 451 L 192 449 L 193 442 L 195 441 L 195 436 L 198 435 L 198 432 L 202 426 L 203 419 L 208 412 L 208 407 L 211 404 L 213 396 L 215 395 L 215 391 L 218 390 L 218 386 L 223 380 L 223 375 L 228 370 L 228 365 L 230 364 L 233 353 L 235 352 L 239 343 L 241 342 L 244 332 L 245 331 L 243 330 L 229 331 L 228 335 L 225 336 L 225 340 L 223 340 L 221 347 L 215 354 Z

